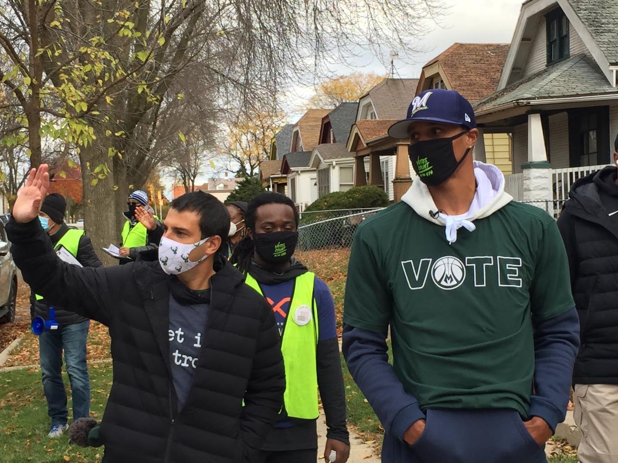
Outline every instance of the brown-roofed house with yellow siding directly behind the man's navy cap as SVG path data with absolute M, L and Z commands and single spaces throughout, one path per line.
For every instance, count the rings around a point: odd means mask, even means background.
M 431 88 L 457 90 L 472 104 L 494 93 L 500 80 L 509 44 L 455 43 L 425 66 L 418 80 L 417 94 Z M 477 144 L 475 157 L 512 171 L 512 143 L 508 133 L 485 131 L 484 146 Z

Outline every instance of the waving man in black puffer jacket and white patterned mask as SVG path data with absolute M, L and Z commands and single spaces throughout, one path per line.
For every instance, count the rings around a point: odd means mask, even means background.
M 30 173 L 7 234 L 38 293 L 109 327 L 103 461 L 253 461 L 281 409 L 285 376 L 270 306 L 218 257 L 226 207 L 185 194 L 167 214 L 159 262 L 80 269 L 56 257 L 36 220 L 48 185 L 46 165 Z

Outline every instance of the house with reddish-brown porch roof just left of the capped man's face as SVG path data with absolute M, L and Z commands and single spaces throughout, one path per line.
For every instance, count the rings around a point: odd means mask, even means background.
M 399 201 L 412 184 L 408 143 L 388 136 L 397 120 L 405 119 L 418 79 L 385 78 L 358 101 L 356 122 L 346 149 L 355 158 L 354 185 L 384 188 L 391 201 Z

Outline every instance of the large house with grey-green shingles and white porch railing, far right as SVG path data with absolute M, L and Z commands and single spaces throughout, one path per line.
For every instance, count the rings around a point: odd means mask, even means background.
M 515 199 L 553 209 L 574 181 L 611 162 L 616 24 L 618 8 L 604 0 L 523 3 L 496 90 L 475 105 L 481 131 L 512 136 L 506 190 Z

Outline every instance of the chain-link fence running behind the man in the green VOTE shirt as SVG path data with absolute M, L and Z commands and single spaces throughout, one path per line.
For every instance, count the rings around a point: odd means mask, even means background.
M 559 217 L 564 206 L 564 200 L 520 202 L 540 207 L 554 219 Z M 311 251 L 324 248 L 349 248 L 358 225 L 383 209 L 303 212 L 298 227 L 298 249 Z

